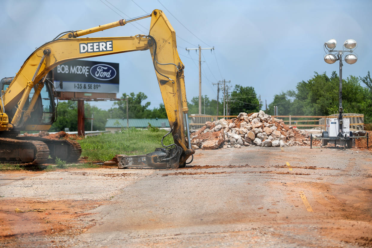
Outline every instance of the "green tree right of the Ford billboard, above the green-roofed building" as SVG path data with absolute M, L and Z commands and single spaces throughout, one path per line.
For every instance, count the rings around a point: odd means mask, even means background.
M 138 92 L 138 94 L 134 94 L 132 92 L 130 95 L 126 93 L 120 98 L 121 101 L 115 102 L 114 105 L 118 106 L 118 109 L 124 114 L 123 117 L 126 117 L 126 97 L 128 96 L 128 117 L 131 119 L 143 119 L 147 116 L 145 115 L 146 109 L 150 106 L 150 102 L 145 103 L 142 105 L 142 101 L 147 99 L 147 96 L 142 93 Z

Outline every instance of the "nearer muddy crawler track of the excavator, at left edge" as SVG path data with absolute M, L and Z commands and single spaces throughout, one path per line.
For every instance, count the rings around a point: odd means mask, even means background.
M 49 149 L 42 141 L 0 138 L 0 161 L 43 164 L 48 160 Z

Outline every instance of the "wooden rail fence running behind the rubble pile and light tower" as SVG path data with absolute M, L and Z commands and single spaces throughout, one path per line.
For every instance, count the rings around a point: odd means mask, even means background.
M 213 122 L 215 120 L 221 119 L 221 118 L 236 118 L 235 115 L 190 115 L 189 116 L 190 126 L 193 128 L 197 128 L 200 126 L 204 126 L 205 122 L 210 121 Z M 326 118 L 336 118 L 337 116 L 318 116 L 318 115 L 272 115 L 272 117 L 282 119 L 283 122 L 288 126 L 296 126 L 296 127 L 320 127 L 321 129 L 325 130 L 325 119 Z M 364 115 L 359 114 L 351 114 L 347 113 L 343 116 L 344 118 L 350 119 L 350 128 L 356 129 L 356 130 L 363 130 L 363 120 Z

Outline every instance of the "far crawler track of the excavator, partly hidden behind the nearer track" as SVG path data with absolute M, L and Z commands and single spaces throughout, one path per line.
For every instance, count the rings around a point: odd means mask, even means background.
M 59 158 L 60 160 L 68 162 L 76 162 L 81 155 L 81 146 L 78 142 L 65 139 L 46 139 L 35 136 L 17 137 L 23 141 L 41 141 L 47 144 L 49 154 L 52 158 Z

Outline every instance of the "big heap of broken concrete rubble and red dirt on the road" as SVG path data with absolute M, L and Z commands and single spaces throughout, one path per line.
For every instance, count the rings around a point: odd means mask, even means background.
M 283 120 L 265 114 L 240 113 L 231 120 L 220 119 L 206 122 L 199 131 L 190 136 L 193 149 L 217 149 L 243 146 L 310 146 L 310 133 L 287 126 Z M 320 145 L 314 141 L 313 145 Z

